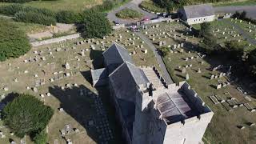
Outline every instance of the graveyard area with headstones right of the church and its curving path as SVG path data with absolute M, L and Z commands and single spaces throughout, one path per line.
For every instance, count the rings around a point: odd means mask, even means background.
M 233 26 L 223 21 L 213 23 L 218 43 L 241 39 L 241 42 L 248 43 L 248 49 L 255 49 Z M 196 38 L 192 30 L 180 22 L 148 25 L 142 32 L 154 46 L 170 48 L 163 60 L 174 82 L 189 82 L 214 111 L 214 118 L 203 138 L 205 143 L 256 142 L 253 132 L 256 129 L 254 82 L 247 76 L 235 78 L 230 74 L 234 68 L 232 66 L 236 65 L 234 61 L 225 55 L 209 57 L 198 53 L 201 39 Z

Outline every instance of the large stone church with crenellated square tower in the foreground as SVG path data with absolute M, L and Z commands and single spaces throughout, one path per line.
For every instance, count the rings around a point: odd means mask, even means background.
M 126 49 L 116 43 L 103 57 L 106 67 L 91 70 L 93 83 L 109 86 L 126 143 L 202 142 L 214 113 L 187 82 L 166 85 L 154 66 L 134 66 Z

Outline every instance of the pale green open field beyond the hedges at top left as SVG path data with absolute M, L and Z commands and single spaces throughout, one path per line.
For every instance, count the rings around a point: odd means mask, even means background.
M 102 4 L 102 0 L 57 0 L 57 1 L 32 1 L 26 2 L 23 5 L 25 6 L 33 6 L 38 8 L 46 8 L 54 11 L 58 10 L 74 10 L 74 11 L 82 11 L 92 6 Z M 0 2 L 0 6 L 3 4 Z

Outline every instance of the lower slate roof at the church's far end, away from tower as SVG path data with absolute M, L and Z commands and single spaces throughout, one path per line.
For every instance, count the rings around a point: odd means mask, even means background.
M 117 43 L 114 43 L 102 54 L 106 62 L 106 66 L 110 66 L 111 64 L 122 64 L 123 62 L 133 63 L 129 52 Z

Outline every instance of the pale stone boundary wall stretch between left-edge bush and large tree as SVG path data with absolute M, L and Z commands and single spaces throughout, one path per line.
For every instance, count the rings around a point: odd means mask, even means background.
M 66 35 L 59 38 L 51 38 L 43 41 L 30 42 L 30 44 L 32 46 L 42 46 L 42 45 L 47 45 L 47 44 L 56 43 L 56 42 L 65 42 L 66 40 L 80 38 L 80 37 L 81 37 L 81 34 L 77 33 L 77 34 Z

